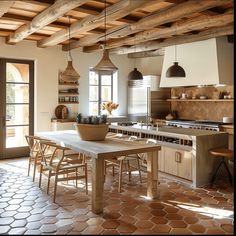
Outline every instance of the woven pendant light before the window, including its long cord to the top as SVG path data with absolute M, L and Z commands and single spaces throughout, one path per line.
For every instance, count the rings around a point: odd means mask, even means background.
M 102 59 L 98 62 L 98 64 L 93 67 L 93 71 L 111 71 L 111 72 L 116 72 L 118 68 L 112 63 L 110 57 L 109 57 L 109 52 L 106 49 L 106 0 L 104 1 L 105 3 L 105 17 L 104 17 L 104 25 L 105 25 L 105 38 L 104 38 L 104 46 L 103 46 L 103 56 Z

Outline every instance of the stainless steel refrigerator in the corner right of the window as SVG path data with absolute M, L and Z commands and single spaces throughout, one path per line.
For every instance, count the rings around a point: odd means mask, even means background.
M 149 122 L 164 119 L 171 112 L 169 88 L 160 88 L 160 76 L 144 76 L 143 80 L 128 81 L 128 119 Z

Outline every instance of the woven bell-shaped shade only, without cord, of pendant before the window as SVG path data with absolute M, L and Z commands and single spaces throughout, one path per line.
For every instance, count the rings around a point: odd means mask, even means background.
M 117 71 L 118 68 L 112 63 L 107 49 L 103 51 L 102 59 L 93 67 L 93 71 Z

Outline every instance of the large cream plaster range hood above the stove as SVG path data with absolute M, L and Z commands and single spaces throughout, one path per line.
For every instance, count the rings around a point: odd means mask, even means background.
M 174 49 L 165 48 L 160 87 L 233 85 L 234 44 L 226 36 L 177 45 L 177 61 L 186 72 L 184 78 L 166 77 L 175 59 Z

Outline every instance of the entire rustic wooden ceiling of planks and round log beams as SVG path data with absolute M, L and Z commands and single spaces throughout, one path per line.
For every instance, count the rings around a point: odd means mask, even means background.
M 38 47 L 84 52 L 102 50 L 106 41 L 110 53 L 156 56 L 166 46 L 233 35 L 233 5 L 233 0 L 1 0 L 0 36 L 7 44 L 34 40 Z

